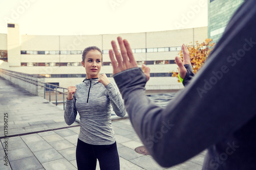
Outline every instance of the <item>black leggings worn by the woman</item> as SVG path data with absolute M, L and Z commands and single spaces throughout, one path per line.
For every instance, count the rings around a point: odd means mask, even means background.
M 77 140 L 76 163 L 79 170 L 95 170 L 97 159 L 101 170 L 119 170 L 116 142 L 110 145 L 93 145 Z

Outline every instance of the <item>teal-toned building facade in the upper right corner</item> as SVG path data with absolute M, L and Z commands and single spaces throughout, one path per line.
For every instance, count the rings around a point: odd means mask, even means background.
M 208 38 L 218 42 L 228 21 L 244 0 L 208 0 Z

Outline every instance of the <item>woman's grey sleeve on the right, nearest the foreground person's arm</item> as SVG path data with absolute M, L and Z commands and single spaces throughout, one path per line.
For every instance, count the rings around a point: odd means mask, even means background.
M 124 102 L 116 84 L 111 81 L 108 85 L 105 86 L 105 88 L 108 92 L 113 110 L 116 115 L 119 117 L 125 116 L 126 111 L 124 108 Z

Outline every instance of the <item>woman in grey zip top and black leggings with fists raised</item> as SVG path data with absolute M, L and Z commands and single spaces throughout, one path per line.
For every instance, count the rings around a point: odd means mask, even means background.
M 100 75 L 102 52 L 96 46 L 84 49 L 82 65 L 86 78 L 76 86 L 68 87 L 65 122 L 74 123 L 80 115 L 80 133 L 76 147 L 78 169 L 120 169 L 116 140 L 111 124 L 111 108 L 123 117 L 125 108 L 116 85 L 105 74 Z M 111 106 L 112 105 L 112 106 Z

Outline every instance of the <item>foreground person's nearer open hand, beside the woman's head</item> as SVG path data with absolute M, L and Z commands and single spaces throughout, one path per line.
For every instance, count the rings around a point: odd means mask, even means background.
M 115 41 L 111 41 L 116 60 L 112 50 L 109 50 L 110 60 L 113 66 L 113 75 L 118 72 L 124 71 L 126 69 L 138 67 L 137 62 L 134 59 L 132 49 L 130 44 L 126 39 L 122 40 L 121 37 L 117 37 L 117 41 L 120 47 L 121 55 L 118 51 L 117 45 Z M 147 66 L 142 66 L 144 68 L 144 73 L 146 75 L 147 80 L 150 79 L 150 68 Z

